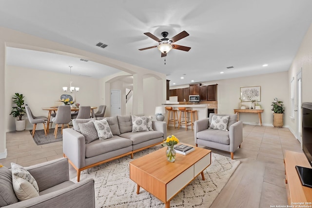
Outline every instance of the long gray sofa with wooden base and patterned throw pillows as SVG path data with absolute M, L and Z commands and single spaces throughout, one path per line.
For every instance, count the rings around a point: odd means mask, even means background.
M 133 153 L 161 144 L 167 137 L 166 122 L 163 121 L 152 121 L 154 131 L 132 132 L 131 115 L 105 119 L 113 133 L 112 138 L 97 139 L 86 144 L 84 135 L 79 132 L 78 123 L 85 123 L 90 119 L 74 119 L 74 127 L 63 130 L 64 157 L 77 170 L 77 181 L 80 180 L 81 170 L 130 154 L 133 158 Z

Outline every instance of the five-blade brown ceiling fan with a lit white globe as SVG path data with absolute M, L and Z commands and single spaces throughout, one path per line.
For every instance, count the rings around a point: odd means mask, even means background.
M 155 46 L 147 47 L 147 48 L 138 49 L 140 51 L 157 47 L 159 49 L 159 51 L 161 52 L 161 57 L 166 57 L 167 53 L 171 49 L 177 49 L 177 50 L 181 50 L 181 51 L 189 51 L 191 49 L 190 47 L 187 47 L 187 46 L 173 44 L 174 42 L 189 36 L 189 34 L 186 31 L 182 31 L 181 33 L 177 34 L 176 36 L 174 36 L 173 38 L 170 38 L 170 39 L 167 38 L 168 32 L 162 32 L 161 36 L 164 38 L 161 38 L 161 39 L 157 38 L 152 33 L 144 33 L 144 35 L 156 40 L 159 44 L 155 45 Z

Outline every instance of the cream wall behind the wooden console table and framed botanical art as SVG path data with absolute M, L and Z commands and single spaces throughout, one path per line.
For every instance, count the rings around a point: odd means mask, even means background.
M 288 88 L 288 72 L 265 74 L 258 76 L 246 76 L 232 79 L 222 79 L 217 81 L 201 82 L 203 85 L 218 84 L 218 113 L 234 113 L 238 108 L 240 87 L 261 87 L 261 101 L 258 102 L 262 113 L 262 125 L 273 126 L 273 113 L 271 104 L 274 97 L 283 101 L 285 104 L 284 126 L 289 125 L 290 99 Z M 188 87 L 188 85 L 175 86 L 175 88 Z M 174 88 L 172 88 L 174 89 Z M 239 120 L 248 124 L 259 124 L 256 113 L 240 113 Z

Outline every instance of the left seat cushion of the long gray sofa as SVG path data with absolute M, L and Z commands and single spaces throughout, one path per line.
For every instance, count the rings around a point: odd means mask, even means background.
M 110 151 L 119 150 L 132 145 L 130 139 L 122 138 L 120 136 L 113 136 L 105 140 L 95 140 L 86 144 L 86 157 L 94 157 Z

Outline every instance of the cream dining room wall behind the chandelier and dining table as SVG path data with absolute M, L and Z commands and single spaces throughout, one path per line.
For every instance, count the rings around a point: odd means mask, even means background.
M 79 87 L 79 92 L 64 93 L 63 86 L 69 86 L 72 78 L 73 86 Z M 42 107 L 51 107 L 62 104 L 59 102 L 60 95 L 69 94 L 73 96 L 75 103 L 80 106 L 98 107 L 101 103 L 98 98 L 98 79 L 86 76 L 70 76 L 66 74 L 53 73 L 48 71 L 34 70 L 16 66 L 6 67 L 5 83 L 5 122 L 8 124 L 6 131 L 15 131 L 15 120 L 11 112 L 12 96 L 20 93 L 25 96 L 27 104 L 34 115 L 47 116 L 48 111 L 43 111 Z M 97 111 L 97 110 L 95 110 Z M 27 115 L 23 119 L 26 119 Z M 26 129 L 31 130 L 33 127 L 26 119 Z M 38 126 L 42 129 L 42 125 Z

